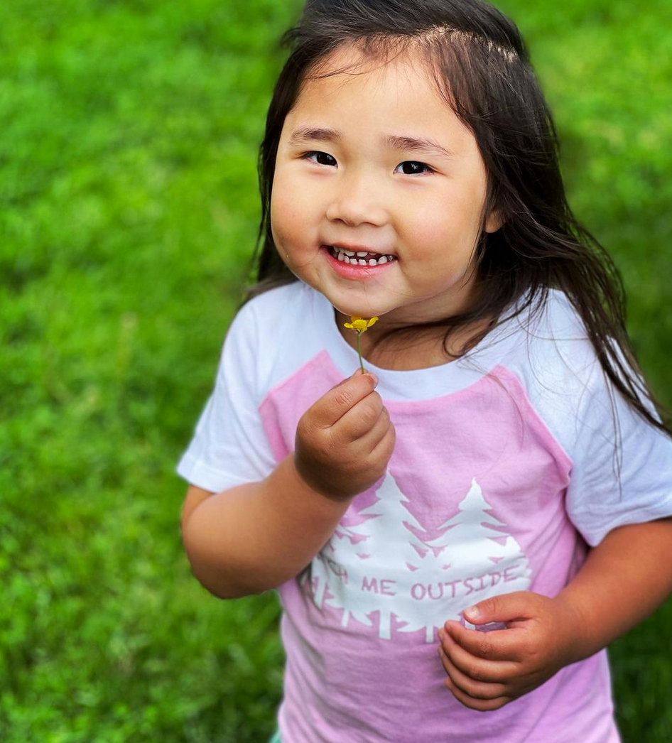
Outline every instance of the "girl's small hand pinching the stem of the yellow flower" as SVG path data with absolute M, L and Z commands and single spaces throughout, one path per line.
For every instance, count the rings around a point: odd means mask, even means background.
M 375 374 L 357 371 L 299 421 L 295 467 L 309 487 L 329 499 L 350 499 L 385 474 L 395 430 L 377 384 Z

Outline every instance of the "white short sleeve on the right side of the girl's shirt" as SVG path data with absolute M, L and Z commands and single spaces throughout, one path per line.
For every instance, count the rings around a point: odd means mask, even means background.
M 497 371 L 515 377 L 525 412 L 569 458 L 566 509 L 589 545 L 672 513 L 672 442 L 607 378 L 572 302 L 551 291 L 500 332 Z

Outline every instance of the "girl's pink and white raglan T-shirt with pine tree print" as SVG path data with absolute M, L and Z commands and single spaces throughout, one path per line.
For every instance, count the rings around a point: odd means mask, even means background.
M 256 297 L 178 473 L 213 492 L 265 478 L 303 412 L 357 366 L 322 295 L 297 282 Z M 606 652 L 478 713 L 445 687 L 436 632 L 495 594 L 553 597 L 610 530 L 671 515 L 668 438 L 610 389 L 555 291 L 459 360 L 366 366 L 395 450 L 278 588 L 283 743 L 617 742 Z

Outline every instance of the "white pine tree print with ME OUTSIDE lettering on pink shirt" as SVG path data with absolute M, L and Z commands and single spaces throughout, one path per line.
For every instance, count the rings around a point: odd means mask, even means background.
M 304 577 L 317 606 L 343 611 L 343 626 L 356 621 L 373 628 L 377 615 L 382 639 L 392 629 L 424 629 L 432 642 L 435 630 L 471 603 L 529 588 L 528 561 L 488 513 L 476 479 L 432 540 L 421 538 L 427 531 L 390 473 L 376 495 L 357 525 L 335 531 Z

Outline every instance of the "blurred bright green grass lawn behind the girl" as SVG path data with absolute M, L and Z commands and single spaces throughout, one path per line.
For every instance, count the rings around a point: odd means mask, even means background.
M 672 5 L 505 0 L 668 406 Z M 252 743 L 272 595 L 190 575 L 173 474 L 259 215 L 256 149 L 296 1 L 0 5 L 0 739 Z M 672 605 L 612 649 L 625 743 L 668 743 Z

